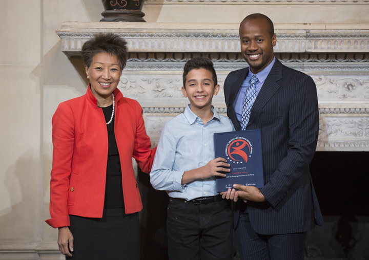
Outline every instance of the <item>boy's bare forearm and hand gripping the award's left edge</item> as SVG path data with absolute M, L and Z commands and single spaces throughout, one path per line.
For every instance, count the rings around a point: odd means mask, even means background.
M 197 169 L 185 171 L 182 176 L 181 184 L 183 185 L 198 179 L 208 179 L 213 176 L 226 177 L 225 174 L 221 174 L 219 171 L 229 172 L 231 171 L 230 169 L 224 168 L 229 166 L 231 165 L 227 163 L 226 159 L 218 157 L 208 162 L 207 165 L 204 165 Z

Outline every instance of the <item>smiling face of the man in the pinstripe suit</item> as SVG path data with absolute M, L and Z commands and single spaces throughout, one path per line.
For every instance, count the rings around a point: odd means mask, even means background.
M 249 63 L 250 70 L 256 74 L 267 67 L 274 58 L 273 47 L 276 36 L 269 30 L 267 20 L 256 18 L 245 20 L 239 29 L 241 53 L 243 59 Z

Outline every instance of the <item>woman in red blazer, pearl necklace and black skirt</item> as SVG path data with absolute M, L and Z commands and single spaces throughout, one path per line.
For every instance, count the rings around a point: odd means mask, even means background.
M 126 41 L 96 34 L 82 48 L 87 93 L 60 103 L 52 119 L 50 214 L 60 252 L 73 259 L 139 259 L 142 203 L 132 157 L 151 170 L 142 108 L 117 89 Z

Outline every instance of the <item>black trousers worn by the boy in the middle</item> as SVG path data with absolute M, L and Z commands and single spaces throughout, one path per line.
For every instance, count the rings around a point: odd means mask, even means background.
M 218 195 L 219 196 L 219 195 Z M 171 198 L 168 205 L 170 260 L 231 260 L 233 213 L 229 200 L 196 204 Z M 207 201 L 209 201 L 207 199 Z

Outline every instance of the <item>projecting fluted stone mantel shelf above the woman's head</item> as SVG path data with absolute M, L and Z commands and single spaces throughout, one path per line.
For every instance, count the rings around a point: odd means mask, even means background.
M 369 0 L 368 0 L 369 1 Z M 110 23 L 111 24 L 111 23 Z M 78 52 L 84 42 L 100 31 L 114 31 L 126 38 L 131 52 L 208 52 L 208 53 L 239 53 L 240 41 L 238 24 L 201 24 L 193 28 L 183 29 L 178 24 L 156 25 L 147 23 L 143 27 L 106 26 L 96 23 L 63 23 L 56 33 L 61 38 L 61 50 L 67 55 L 80 55 Z M 96 25 L 96 28 L 91 28 Z M 298 28 L 299 26 L 297 26 Z M 302 26 L 300 26 L 302 27 Z M 313 28 L 314 26 L 312 26 Z M 276 53 L 303 52 L 335 52 L 363 53 L 369 51 L 369 28 L 356 30 L 326 30 L 323 29 L 278 29 L 275 26 L 277 44 Z

